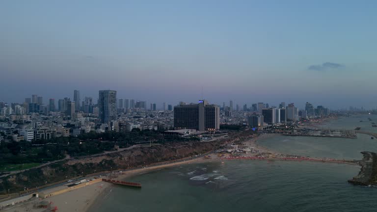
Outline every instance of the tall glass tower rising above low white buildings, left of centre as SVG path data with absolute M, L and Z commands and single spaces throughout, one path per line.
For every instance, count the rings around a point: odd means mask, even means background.
M 116 91 L 100 90 L 98 100 L 98 116 L 101 123 L 116 120 Z

